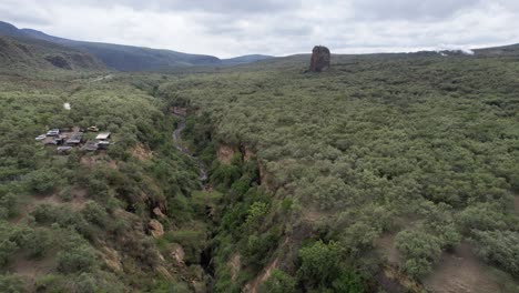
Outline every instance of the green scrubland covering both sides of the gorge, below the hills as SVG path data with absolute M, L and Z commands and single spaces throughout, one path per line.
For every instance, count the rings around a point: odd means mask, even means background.
M 314 74 L 298 58 L 1 75 L 0 291 L 421 292 L 469 247 L 517 292 L 519 59 L 335 57 Z M 106 152 L 34 140 L 90 125 Z

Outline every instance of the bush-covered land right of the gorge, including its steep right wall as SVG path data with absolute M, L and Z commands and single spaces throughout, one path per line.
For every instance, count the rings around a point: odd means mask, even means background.
M 519 59 L 307 60 L 159 90 L 217 154 L 215 292 L 517 292 Z

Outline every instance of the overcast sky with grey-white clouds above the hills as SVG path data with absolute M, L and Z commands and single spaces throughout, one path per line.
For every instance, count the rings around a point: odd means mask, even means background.
M 519 42 L 519 0 L 1 0 L 0 20 L 77 40 L 233 57 Z

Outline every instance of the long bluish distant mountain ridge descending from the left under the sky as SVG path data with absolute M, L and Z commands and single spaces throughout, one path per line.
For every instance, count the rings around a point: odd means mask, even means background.
M 189 54 L 171 50 L 74 41 L 49 36 L 32 29 L 18 29 L 0 21 L 0 36 L 40 39 L 89 52 L 100 59 L 106 67 L 120 71 L 152 71 L 167 68 L 193 65 L 234 65 L 265 60 L 267 55 L 244 55 L 221 60 L 213 55 Z

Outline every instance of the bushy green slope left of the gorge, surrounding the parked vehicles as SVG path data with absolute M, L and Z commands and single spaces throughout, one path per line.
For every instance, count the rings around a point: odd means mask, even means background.
M 174 121 L 147 93 L 156 81 L 94 80 L 59 71 L 0 75 L 0 291 L 203 287 L 199 255 L 185 264 L 172 254 L 173 242 L 185 241 L 175 231 L 196 226 L 197 243 L 205 234 L 186 200 L 200 189 L 197 170 L 172 152 Z M 61 156 L 34 141 L 48 128 L 91 124 L 113 133 L 108 153 Z M 151 219 L 167 239 L 150 235 Z

